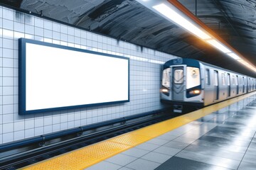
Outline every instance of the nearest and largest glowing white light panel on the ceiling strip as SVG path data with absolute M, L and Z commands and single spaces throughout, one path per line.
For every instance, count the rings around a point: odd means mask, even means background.
M 156 11 L 159 11 L 159 13 L 163 14 L 167 18 L 171 19 L 171 21 L 174 21 L 175 23 L 177 23 L 179 26 L 185 28 L 189 32 L 198 36 L 199 38 L 203 40 L 210 39 L 210 36 L 204 33 L 203 30 L 201 30 L 200 28 L 196 27 L 193 23 L 186 20 L 186 18 L 178 14 L 169 6 L 166 6 L 166 4 L 159 4 L 159 5 L 153 6 L 153 8 L 156 9 Z

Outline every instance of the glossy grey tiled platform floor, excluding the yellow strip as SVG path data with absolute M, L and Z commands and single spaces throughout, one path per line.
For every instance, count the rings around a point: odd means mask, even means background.
M 251 96 L 87 170 L 255 170 L 255 131 L 256 96 Z

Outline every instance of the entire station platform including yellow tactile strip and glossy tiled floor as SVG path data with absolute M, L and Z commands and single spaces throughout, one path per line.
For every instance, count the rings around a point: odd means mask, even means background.
M 256 169 L 256 92 L 23 169 Z

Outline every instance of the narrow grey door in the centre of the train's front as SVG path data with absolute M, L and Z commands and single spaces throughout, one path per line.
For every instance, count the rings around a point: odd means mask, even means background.
M 184 96 L 184 70 L 183 67 L 174 67 L 172 75 L 172 98 L 174 101 L 183 101 Z

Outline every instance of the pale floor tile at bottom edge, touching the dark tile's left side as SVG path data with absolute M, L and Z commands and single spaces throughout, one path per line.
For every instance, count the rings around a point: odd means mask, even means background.
M 154 170 L 159 165 L 160 164 L 156 162 L 150 162 L 144 159 L 137 159 L 134 162 L 127 164 L 126 167 L 136 170 Z

